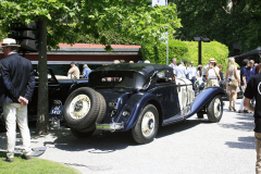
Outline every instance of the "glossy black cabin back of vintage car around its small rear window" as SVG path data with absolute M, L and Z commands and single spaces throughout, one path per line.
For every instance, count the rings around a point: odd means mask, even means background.
M 144 89 L 149 80 L 134 71 L 92 72 L 89 77 L 91 87 L 125 87 Z

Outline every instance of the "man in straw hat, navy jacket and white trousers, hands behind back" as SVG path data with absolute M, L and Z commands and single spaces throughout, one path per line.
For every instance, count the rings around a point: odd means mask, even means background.
M 0 61 L 0 107 L 3 108 L 5 120 L 8 153 L 3 161 L 14 161 L 16 122 L 18 124 L 24 152 L 22 158 L 30 160 L 30 133 L 27 125 L 27 104 L 35 88 L 35 75 L 29 60 L 20 57 L 16 41 L 3 39 Z

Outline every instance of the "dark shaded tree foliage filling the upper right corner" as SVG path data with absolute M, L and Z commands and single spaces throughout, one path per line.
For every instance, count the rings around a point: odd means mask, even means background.
M 183 28 L 177 38 L 192 40 L 207 36 L 228 46 L 239 42 L 241 52 L 261 45 L 259 21 L 261 1 L 258 0 L 173 0 L 177 5 Z M 233 52 L 232 52 L 233 54 Z

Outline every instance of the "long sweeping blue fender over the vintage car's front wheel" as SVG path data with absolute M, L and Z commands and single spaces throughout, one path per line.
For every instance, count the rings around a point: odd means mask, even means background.
M 191 104 L 190 113 L 185 117 L 189 117 L 195 113 L 199 112 L 204 105 L 207 105 L 217 95 L 221 95 L 221 96 L 225 95 L 225 91 L 220 87 L 211 87 L 211 88 L 204 89 L 202 92 L 200 92 L 196 97 L 196 99 L 194 100 L 194 103 Z

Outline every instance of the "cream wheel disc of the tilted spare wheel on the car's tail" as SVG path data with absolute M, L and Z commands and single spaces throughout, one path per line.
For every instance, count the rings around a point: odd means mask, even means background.
M 90 99 L 86 95 L 76 96 L 70 103 L 70 115 L 74 120 L 84 117 L 90 110 Z

